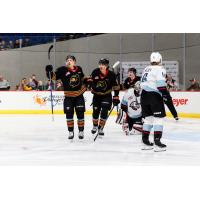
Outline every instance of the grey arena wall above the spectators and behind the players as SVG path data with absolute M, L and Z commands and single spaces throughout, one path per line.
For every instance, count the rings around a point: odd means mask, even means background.
M 33 73 L 40 80 L 46 80 L 44 67 L 48 64 L 47 51 L 51 44 L 24 47 L 0 52 L 0 74 L 11 82 L 12 89 L 23 77 Z M 184 50 L 184 46 L 186 46 Z M 179 62 L 180 86 L 189 85 L 189 79 L 199 80 L 200 34 L 151 34 L 151 33 L 109 33 L 87 38 L 56 42 L 55 57 L 51 61 L 56 67 L 65 62 L 67 54 L 74 54 L 77 64 L 90 74 L 102 57 L 108 57 L 111 65 L 117 61 L 148 61 L 152 50 L 160 51 L 163 60 Z M 185 57 L 184 57 L 185 55 Z M 185 70 L 184 70 L 185 63 Z

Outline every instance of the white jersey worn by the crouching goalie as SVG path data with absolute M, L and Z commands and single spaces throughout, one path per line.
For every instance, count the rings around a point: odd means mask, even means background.
M 138 118 L 142 116 L 142 109 L 140 105 L 140 96 L 136 97 L 134 94 L 134 88 L 128 89 L 121 102 L 128 108 L 128 116 L 130 118 Z

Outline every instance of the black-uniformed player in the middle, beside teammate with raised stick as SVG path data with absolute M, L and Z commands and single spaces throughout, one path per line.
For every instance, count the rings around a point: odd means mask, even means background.
M 114 90 L 113 97 L 112 90 Z M 91 132 L 95 134 L 98 131 L 98 134 L 103 136 L 103 128 L 112 103 L 114 106 L 120 103 L 119 85 L 114 72 L 109 70 L 109 60 L 106 58 L 99 60 L 99 68 L 96 68 L 91 74 L 91 92 L 94 94 L 92 101 L 93 129 Z

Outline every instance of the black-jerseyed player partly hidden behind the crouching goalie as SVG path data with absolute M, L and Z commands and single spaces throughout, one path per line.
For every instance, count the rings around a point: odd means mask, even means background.
M 140 77 L 137 76 L 136 69 L 134 67 L 129 68 L 128 78 L 125 79 L 124 84 L 123 84 L 124 89 L 129 89 L 130 87 L 134 87 L 137 81 L 140 81 Z

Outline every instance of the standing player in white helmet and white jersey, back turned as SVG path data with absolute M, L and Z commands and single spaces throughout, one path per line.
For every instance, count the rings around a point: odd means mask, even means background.
M 142 149 L 153 149 L 153 143 L 149 141 L 151 128 L 154 130 L 155 151 L 166 150 L 166 145 L 161 143 L 163 133 L 163 119 L 166 116 L 163 98 L 168 99 L 166 88 L 166 70 L 161 65 L 162 56 L 153 52 L 150 56 L 151 65 L 147 66 L 141 77 L 141 106 L 144 117 Z

